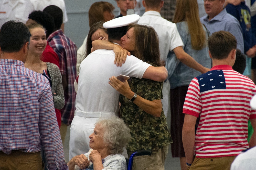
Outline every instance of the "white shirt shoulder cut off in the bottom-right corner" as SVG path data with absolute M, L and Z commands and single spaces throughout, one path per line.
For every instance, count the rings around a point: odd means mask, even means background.
M 230 170 L 253 170 L 256 162 L 256 147 L 239 154 L 231 164 Z

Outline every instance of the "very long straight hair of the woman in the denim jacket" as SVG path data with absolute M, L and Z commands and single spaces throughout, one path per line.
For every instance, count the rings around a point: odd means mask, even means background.
M 207 45 L 205 31 L 199 19 L 197 0 L 177 0 L 173 22 L 186 21 L 191 36 L 191 45 L 200 50 Z

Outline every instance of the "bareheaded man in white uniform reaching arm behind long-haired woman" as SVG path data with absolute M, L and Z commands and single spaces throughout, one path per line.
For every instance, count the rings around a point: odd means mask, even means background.
M 177 31 L 176 24 L 170 22 L 161 17 L 160 11 L 164 5 L 164 1 L 161 0 L 143 0 L 143 6 L 145 7 L 145 13 L 138 21 L 138 24 L 151 26 L 155 29 L 159 37 L 159 49 L 160 49 L 160 59 L 163 64 L 165 64 L 167 55 L 170 51 L 174 51 L 178 60 L 186 64 L 201 73 L 207 72 L 209 69 L 198 64 L 191 56 L 189 56 L 183 50 L 183 42 Z M 171 75 L 175 70 L 175 66 L 172 66 L 172 70 L 168 70 L 168 75 Z M 163 85 L 163 110 L 165 115 L 167 115 L 169 109 L 169 94 L 170 85 L 166 81 Z

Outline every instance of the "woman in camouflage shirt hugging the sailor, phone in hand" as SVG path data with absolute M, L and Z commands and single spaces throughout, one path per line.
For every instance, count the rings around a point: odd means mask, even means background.
M 161 65 L 158 36 L 152 27 L 131 24 L 121 40 L 122 47 L 137 58 Z M 121 118 L 131 133 L 128 155 L 138 150 L 152 152 L 151 156 L 134 157 L 133 169 L 164 169 L 171 137 L 161 103 L 163 82 L 132 77 L 128 83 L 112 76 L 109 84 L 121 94 Z

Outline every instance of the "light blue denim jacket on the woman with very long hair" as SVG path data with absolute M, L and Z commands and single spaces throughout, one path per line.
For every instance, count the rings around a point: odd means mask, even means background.
M 195 50 L 191 45 L 191 36 L 188 30 L 187 22 L 178 22 L 176 23 L 177 30 L 184 44 L 184 51 L 193 57 L 199 64 L 204 67 L 211 68 L 211 58 L 209 56 L 208 45 L 202 48 L 201 50 Z M 206 34 L 206 39 L 208 35 L 206 28 L 203 26 Z M 188 86 L 194 77 L 201 75 L 202 73 L 196 71 L 182 62 L 180 62 L 174 52 L 169 53 L 165 67 L 168 70 L 168 80 L 170 82 L 170 88 L 176 88 L 181 86 Z

